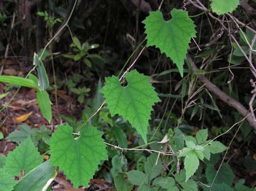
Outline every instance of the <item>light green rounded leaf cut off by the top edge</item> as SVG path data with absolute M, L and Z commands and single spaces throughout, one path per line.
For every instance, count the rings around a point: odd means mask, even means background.
M 218 15 L 233 12 L 239 5 L 239 0 L 212 0 L 210 8 Z

